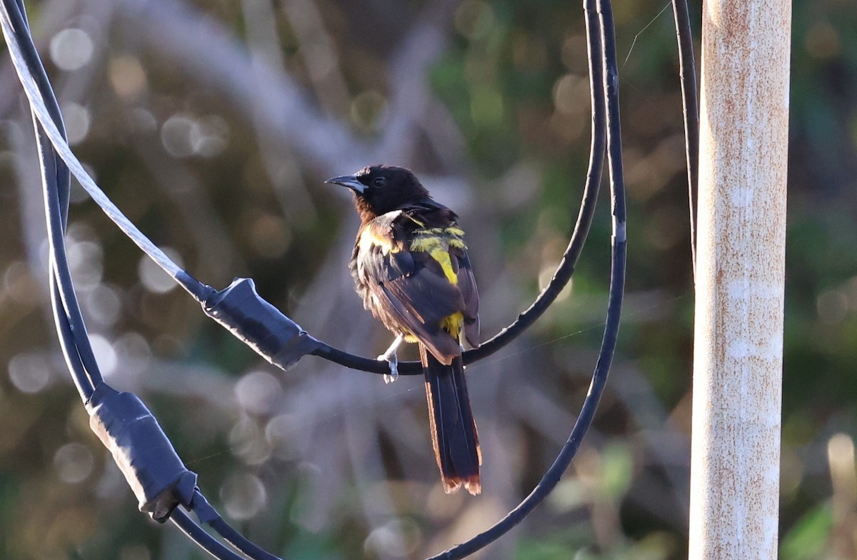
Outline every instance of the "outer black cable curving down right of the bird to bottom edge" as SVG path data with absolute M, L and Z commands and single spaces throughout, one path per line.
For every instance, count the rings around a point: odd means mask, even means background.
M 616 48 L 613 25 L 613 11 L 609 0 L 597 1 L 597 20 L 593 15 L 596 0 L 584 0 L 586 14 L 586 30 L 590 47 L 590 75 L 593 73 L 593 59 L 598 63 L 599 51 L 602 51 L 602 91 L 596 95 L 593 90 L 593 106 L 598 103 L 607 106 L 607 150 L 610 166 L 610 191 L 612 200 L 614 236 L 612 240 L 612 267 L 610 269 L 610 295 L 608 300 L 607 323 L 604 326 L 601 350 L 592 374 L 590 391 L 586 395 L 580 415 L 574 423 L 571 435 L 562 446 L 554 464 L 542 476 L 530 495 L 512 509 L 506 517 L 494 524 L 487 531 L 477 534 L 472 539 L 453 546 L 451 549 L 428 558 L 428 560 L 454 560 L 463 558 L 478 551 L 494 540 L 506 534 L 548 497 L 560 481 L 577 455 L 580 443 L 592 424 L 598 401 L 607 382 L 610 364 L 616 348 L 619 333 L 619 323 L 622 308 L 622 298 L 625 292 L 625 263 L 626 263 L 626 213 L 625 213 L 625 182 L 622 172 L 621 129 L 619 121 L 619 70 L 616 64 Z M 600 40 L 599 40 L 600 37 Z M 606 97 L 606 100 L 605 100 Z

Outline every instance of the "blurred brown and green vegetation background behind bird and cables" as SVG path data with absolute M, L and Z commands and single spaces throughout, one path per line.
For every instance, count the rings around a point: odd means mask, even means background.
M 554 0 L 42 0 L 33 35 L 70 142 L 153 240 L 218 288 L 253 277 L 313 334 L 389 335 L 346 269 L 323 179 L 410 166 L 462 216 L 483 338 L 565 247 L 589 150 L 584 25 Z M 698 29 L 700 6 L 692 5 Z M 668 3 L 614 3 L 627 305 L 596 425 L 548 503 L 482 557 L 686 556 L 692 274 Z M 857 4 L 794 4 L 781 557 L 855 557 Z M 69 382 L 46 297 L 32 125 L 0 56 L 0 557 L 201 558 L 134 498 Z M 153 408 L 215 505 L 285 557 L 415 558 L 488 527 L 570 431 L 606 309 L 608 204 L 548 315 L 469 369 L 480 497 L 445 496 L 423 382 L 282 372 L 203 318 L 75 190 L 69 256 L 99 364 Z

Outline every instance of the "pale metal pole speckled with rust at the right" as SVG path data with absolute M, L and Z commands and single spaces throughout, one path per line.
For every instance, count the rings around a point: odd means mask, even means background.
M 706 0 L 690 558 L 777 553 L 790 0 Z

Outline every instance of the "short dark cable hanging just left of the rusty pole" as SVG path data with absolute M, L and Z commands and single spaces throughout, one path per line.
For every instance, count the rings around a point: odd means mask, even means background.
M 685 153 L 687 160 L 687 202 L 690 207 L 691 259 L 696 279 L 696 220 L 699 184 L 699 105 L 696 82 L 696 59 L 693 57 L 691 18 L 687 0 L 673 0 L 675 35 L 679 45 L 679 78 L 681 107 L 685 118 Z

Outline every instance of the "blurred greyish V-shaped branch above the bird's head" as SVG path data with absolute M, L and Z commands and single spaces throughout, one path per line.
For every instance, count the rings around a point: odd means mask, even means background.
M 265 137 L 281 144 L 280 149 L 288 146 L 328 171 L 357 169 L 376 160 L 407 164 L 411 128 L 423 118 L 431 100 L 426 69 L 446 45 L 446 22 L 455 5 L 452 0 L 430 3 L 415 27 L 405 34 L 404 44 L 399 45 L 390 63 L 390 116 L 380 141 L 368 143 L 322 115 L 303 88 L 276 68 L 281 62 L 270 57 L 262 57 L 264 63 L 254 61 L 252 53 L 231 39 L 228 30 L 185 3 L 115 3 L 126 40 L 141 41 L 150 51 L 176 63 L 190 78 L 216 87 L 249 119 L 259 123 Z M 271 32 L 254 33 L 267 37 Z M 263 38 L 257 39 L 258 45 Z

